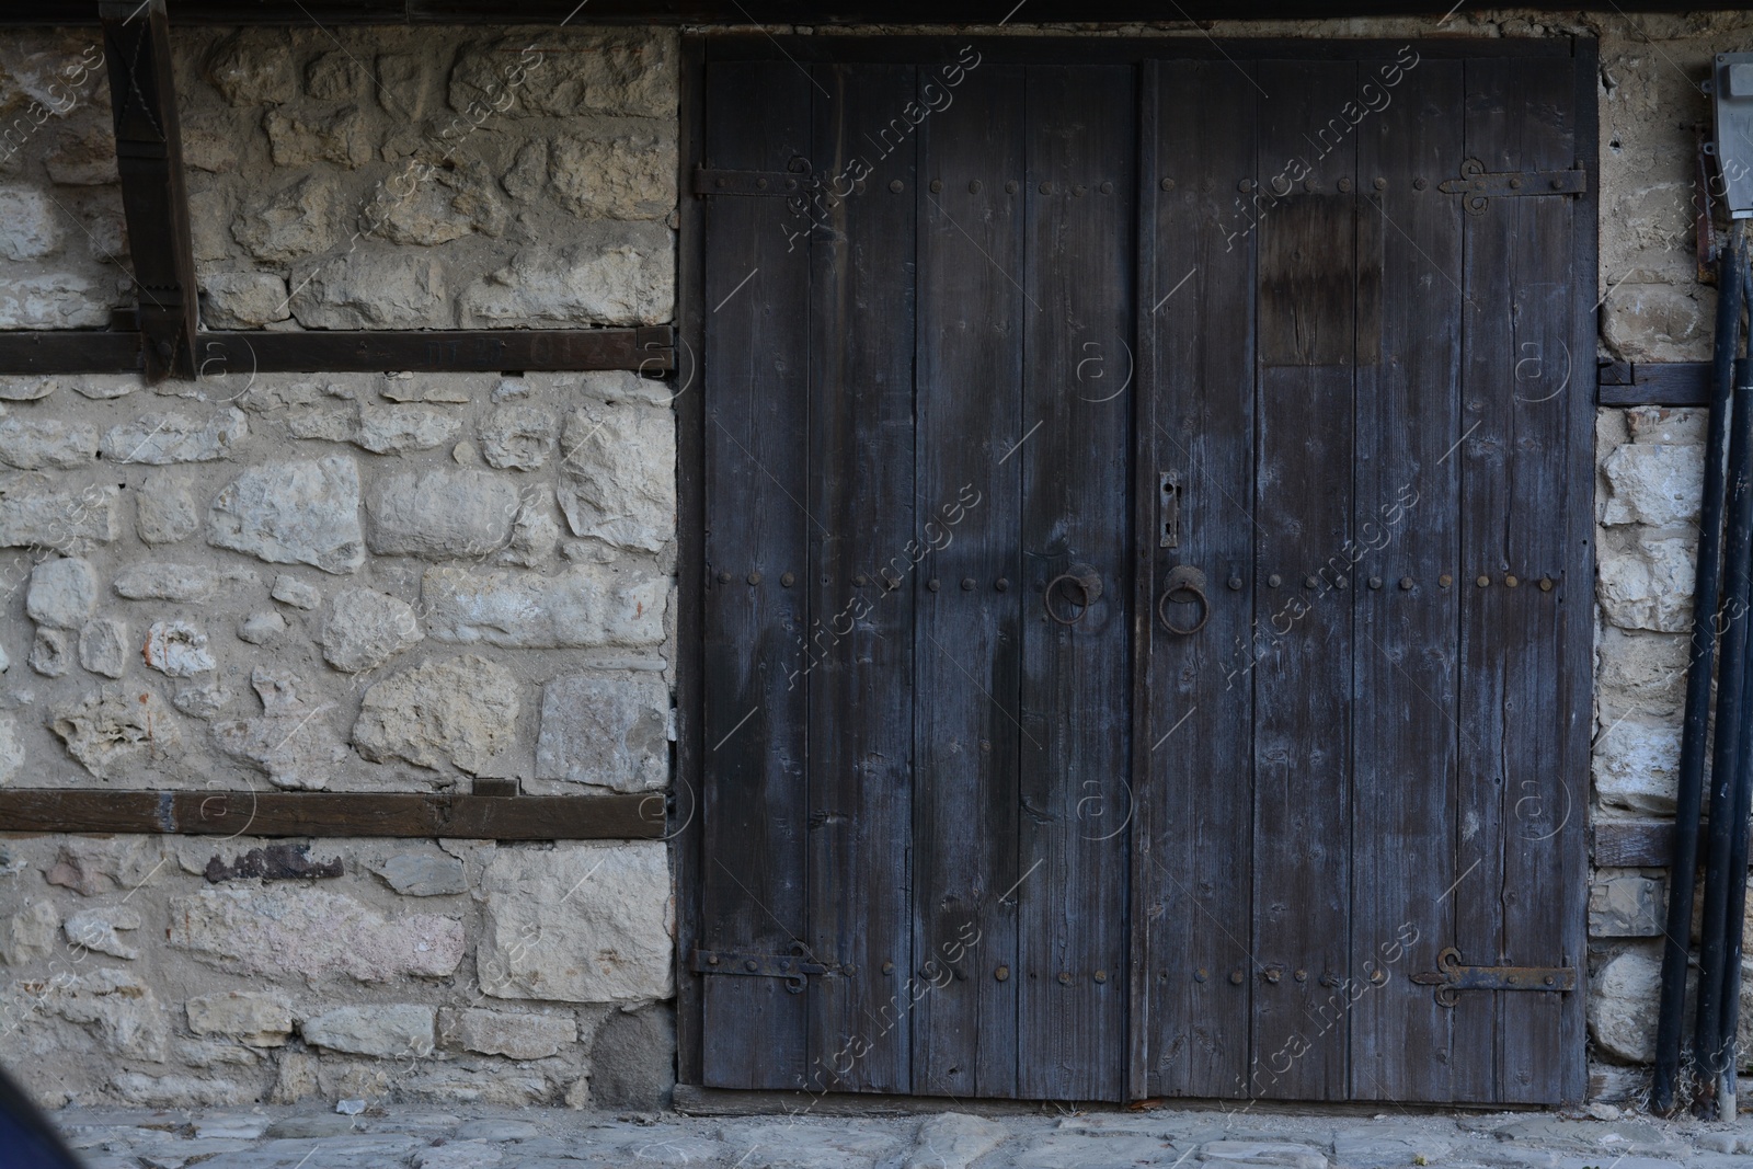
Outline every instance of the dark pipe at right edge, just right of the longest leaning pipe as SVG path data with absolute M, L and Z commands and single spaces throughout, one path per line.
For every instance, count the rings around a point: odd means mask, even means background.
M 1746 235 L 1735 224 L 1735 265 L 1744 263 Z M 1723 531 L 1723 606 L 1721 668 L 1716 678 L 1716 743 L 1711 752 L 1711 827 L 1704 869 L 1704 939 L 1699 946 L 1699 1024 L 1693 1032 L 1699 1073 L 1713 1080 L 1723 1074 L 1721 1024 L 1727 990 L 1725 955 L 1728 941 L 1728 885 L 1735 836 L 1737 766 L 1741 734 L 1737 720 L 1746 708 L 1748 689 L 1748 591 L 1753 573 L 1753 400 L 1735 386 L 1728 424 L 1728 515 Z M 1741 832 L 1746 832 L 1742 822 Z M 1742 845 L 1739 882 L 1746 882 Z M 1685 876 L 1685 875 L 1678 875 Z M 1728 1085 L 1720 1085 L 1727 1090 Z

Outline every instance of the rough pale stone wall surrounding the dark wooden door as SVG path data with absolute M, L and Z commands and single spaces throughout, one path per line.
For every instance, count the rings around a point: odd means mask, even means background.
M 1709 352 L 1695 82 L 1753 44 L 1746 14 L 969 32 L 1595 35 L 1602 352 Z M 174 49 L 209 328 L 671 319 L 673 30 Z M 0 328 L 98 328 L 133 300 L 107 109 L 93 32 L 0 42 Z M 0 377 L 0 783 L 670 783 L 661 384 L 205 373 Z M 1672 806 L 1704 421 L 1600 412 L 1597 822 Z M 1592 882 L 1595 1092 L 1620 1099 L 1653 1043 L 1664 875 Z M 671 936 L 661 843 L 5 838 L 0 1062 L 47 1102 L 647 1106 Z

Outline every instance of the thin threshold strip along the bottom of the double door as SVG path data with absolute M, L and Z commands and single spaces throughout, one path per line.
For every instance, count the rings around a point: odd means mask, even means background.
M 1229 1101 L 1173 1097 L 1117 1104 L 1113 1101 L 1004 1101 L 955 1099 L 950 1095 L 894 1095 L 887 1092 L 775 1092 L 764 1088 L 703 1088 L 675 1085 L 671 1108 L 684 1116 L 926 1116 L 936 1113 L 971 1113 L 975 1116 L 1054 1116 L 1136 1115 L 1153 1111 L 1224 1111 L 1257 1115 L 1376 1116 L 1394 1111 L 1402 1116 L 1448 1116 L 1455 1113 L 1541 1113 L 1548 1104 L 1432 1104 L 1392 1101 Z

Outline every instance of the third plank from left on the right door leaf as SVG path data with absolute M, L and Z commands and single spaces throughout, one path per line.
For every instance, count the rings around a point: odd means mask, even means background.
M 1408 61 L 1413 61 L 1408 68 Z M 1388 81 L 1395 84 L 1387 84 Z M 1359 207 L 1380 263 L 1378 361 L 1359 314 L 1352 803 L 1352 1095 L 1451 1099 L 1450 1024 L 1430 988 L 1455 868 L 1460 221 L 1437 191 L 1462 158 L 1460 61 L 1364 61 L 1387 105 L 1359 135 Z M 1383 98 L 1376 96 L 1376 103 Z M 1423 179 L 1420 188 L 1416 182 Z M 1380 184 L 1380 186 L 1378 186 Z M 1360 238 L 1362 242 L 1362 238 Z M 1360 261 L 1362 263 L 1362 261 Z M 1366 291 L 1360 279 L 1359 293 Z M 1374 587 L 1380 580 L 1380 587 Z M 1371 974 L 1380 971 L 1380 980 Z

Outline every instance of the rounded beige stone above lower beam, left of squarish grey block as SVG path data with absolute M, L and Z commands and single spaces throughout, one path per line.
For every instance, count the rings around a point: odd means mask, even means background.
M 373 762 L 491 771 L 517 734 L 517 682 L 510 671 L 466 654 L 377 682 L 359 703 L 352 745 Z

